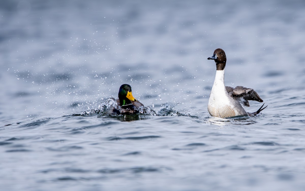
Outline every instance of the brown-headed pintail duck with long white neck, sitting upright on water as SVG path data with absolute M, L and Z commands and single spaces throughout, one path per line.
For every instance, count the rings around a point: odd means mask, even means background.
M 242 106 L 249 107 L 249 101 L 263 102 L 252 88 L 237 86 L 235 88 L 224 86 L 224 67 L 226 66 L 227 57 L 223 49 L 216 49 L 212 57 L 208 60 L 214 60 L 216 63 L 216 75 L 214 84 L 210 93 L 208 102 L 208 111 L 213 117 L 235 117 L 249 116 L 259 114 L 265 109 L 264 104 L 254 113 L 247 113 Z

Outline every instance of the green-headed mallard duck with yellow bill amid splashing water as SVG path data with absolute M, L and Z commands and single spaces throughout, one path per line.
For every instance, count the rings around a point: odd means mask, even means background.
M 122 107 L 123 112 L 121 113 L 137 113 L 137 109 L 144 106 L 132 96 L 131 86 L 128 84 L 121 85 L 118 96 L 117 105 Z

